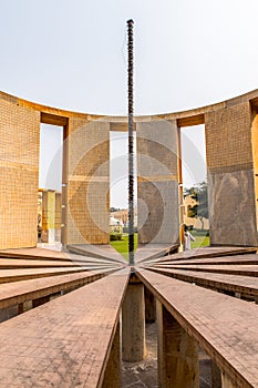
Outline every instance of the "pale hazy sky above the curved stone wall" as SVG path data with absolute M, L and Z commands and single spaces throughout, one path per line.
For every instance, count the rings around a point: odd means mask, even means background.
M 126 114 L 132 18 L 135 114 L 224 101 L 258 88 L 257 14 L 257 0 L 0 0 L 0 90 L 61 109 Z

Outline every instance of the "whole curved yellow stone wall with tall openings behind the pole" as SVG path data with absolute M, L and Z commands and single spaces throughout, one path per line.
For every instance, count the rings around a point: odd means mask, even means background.
M 205 124 L 211 244 L 258 245 L 257 110 L 258 90 L 186 112 L 135 118 L 140 242 L 178 241 L 179 127 Z M 37 244 L 40 123 L 64 127 L 63 244 L 107 244 L 109 133 L 126 131 L 126 118 L 59 110 L 1 92 L 0 248 Z

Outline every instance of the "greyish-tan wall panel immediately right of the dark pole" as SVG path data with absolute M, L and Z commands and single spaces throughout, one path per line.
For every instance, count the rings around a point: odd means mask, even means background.
M 177 125 L 137 123 L 140 244 L 178 243 Z

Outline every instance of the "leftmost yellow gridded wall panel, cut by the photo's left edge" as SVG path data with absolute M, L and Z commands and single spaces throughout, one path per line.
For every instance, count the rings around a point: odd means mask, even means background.
M 0 248 L 37 244 L 40 112 L 0 94 Z

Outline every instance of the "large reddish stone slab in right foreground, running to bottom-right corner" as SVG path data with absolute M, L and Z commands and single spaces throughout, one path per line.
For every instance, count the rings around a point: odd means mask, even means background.
M 137 274 L 236 387 L 258 387 L 255 304 L 148 270 Z

